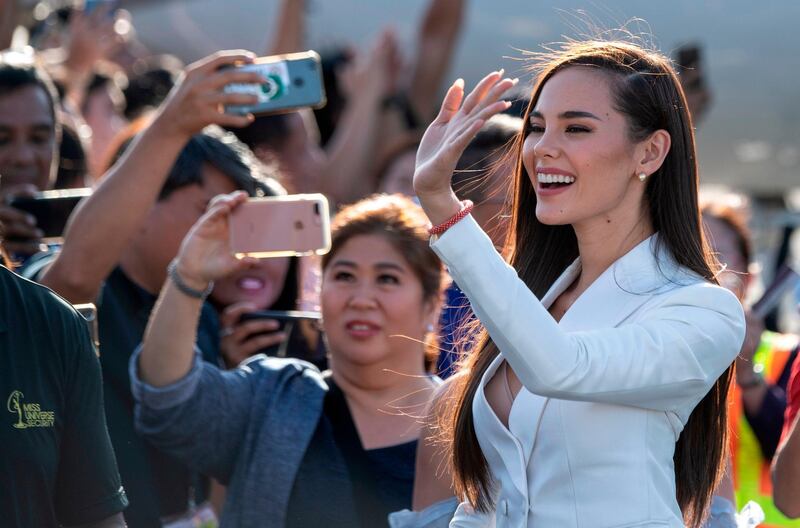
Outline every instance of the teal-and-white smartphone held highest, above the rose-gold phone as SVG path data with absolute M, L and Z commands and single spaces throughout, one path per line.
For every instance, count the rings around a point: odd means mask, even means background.
M 263 84 L 229 84 L 227 93 L 258 96 L 254 105 L 228 105 L 231 114 L 268 114 L 290 112 L 297 108 L 325 106 L 322 66 L 315 51 L 261 57 L 252 64 L 237 66 L 242 71 L 260 73 Z

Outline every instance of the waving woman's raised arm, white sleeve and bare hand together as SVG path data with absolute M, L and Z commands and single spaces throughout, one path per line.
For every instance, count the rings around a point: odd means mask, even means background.
M 466 98 L 461 83 L 453 85 L 425 132 L 414 189 L 435 226 L 460 218 L 450 176 L 485 119 L 505 106 L 497 100 L 513 83 L 500 77 L 488 75 Z M 473 218 L 452 225 L 433 249 L 514 373 L 535 394 L 658 410 L 695 405 L 742 345 L 741 304 L 710 284 L 676 289 L 634 324 L 565 332 Z M 486 277 L 492 277 L 491 288 Z

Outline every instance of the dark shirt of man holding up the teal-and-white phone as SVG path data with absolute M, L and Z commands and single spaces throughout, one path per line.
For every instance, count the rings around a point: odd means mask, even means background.
M 205 479 L 199 479 L 176 459 L 155 449 L 133 428 L 134 401 L 128 363 L 142 342 L 156 296 L 131 281 L 121 268 L 106 279 L 97 300 L 100 364 L 106 395 L 108 432 L 117 453 L 119 471 L 130 507 L 129 528 L 160 526 L 160 519 L 186 510 L 192 490 L 204 498 Z M 219 321 L 206 304 L 200 316 L 197 344 L 206 361 L 219 357 Z

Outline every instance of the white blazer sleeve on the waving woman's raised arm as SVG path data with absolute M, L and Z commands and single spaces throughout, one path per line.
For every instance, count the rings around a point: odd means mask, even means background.
M 744 339 L 739 301 L 706 283 L 677 288 L 637 323 L 565 332 L 471 217 L 432 247 L 535 394 L 678 410 L 705 395 Z

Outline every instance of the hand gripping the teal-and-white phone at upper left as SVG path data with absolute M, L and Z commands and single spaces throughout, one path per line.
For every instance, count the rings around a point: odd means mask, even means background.
M 189 138 L 208 125 L 243 127 L 253 115 L 225 113 L 225 105 L 252 105 L 255 95 L 225 93 L 228 84 L 263 84 L 256 72 L 243 72 L 233 66 L 252 63 L 255 55 L 247 51 L 220 51 L 187 66 L 178 83 L 164 101 L 154 127 Z

